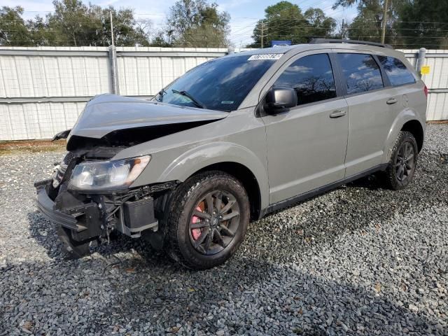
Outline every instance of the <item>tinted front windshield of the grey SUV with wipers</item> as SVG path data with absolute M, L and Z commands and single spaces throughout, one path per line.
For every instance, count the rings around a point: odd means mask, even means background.
M 212 59 L 165 87 L 155 100 L 217 111 L 236 110 L 278 58 L 279 55 L 270 59 L 241 55 Z

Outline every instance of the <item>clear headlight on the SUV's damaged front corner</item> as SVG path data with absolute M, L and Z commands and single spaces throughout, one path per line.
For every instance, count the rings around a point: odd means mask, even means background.
M 71 174 L 69 189 L 105 190 L 130 186 L 139 177 L 151 155 L 113 161 L 81 162 Z

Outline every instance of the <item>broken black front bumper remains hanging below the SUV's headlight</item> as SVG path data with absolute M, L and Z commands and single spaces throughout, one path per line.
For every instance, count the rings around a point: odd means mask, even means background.
M 92 195 L 92 198 L 87 197 L 82 202 L 70 195 L 71 202 L 67 203 L 71 206 L 58 209 L 61 206 L 49 195 L 51 183 L 52 179 L 34 183 L 38 210 L 52 223 L 69 229 L 71 237 L 76 241 L 106 237 L 111 230 L 118 230 L 130 237 L 140 237 L 143 230 L 158 230 L 152 197 L 120 203 L 111 199 L 115 197 L 113 195 Z M 105 200 L 116 203 L 108 208 L 102 205 Z

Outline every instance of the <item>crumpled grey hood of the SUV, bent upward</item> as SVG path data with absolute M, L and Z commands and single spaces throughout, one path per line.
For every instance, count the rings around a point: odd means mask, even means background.
M 116 94 L 100 94 L 87 103 L 69 138 L 76 135 L 101 139 L 116 130 L 213 121 L 223 119 L 228 114 L 228 112 L 148 102 Z

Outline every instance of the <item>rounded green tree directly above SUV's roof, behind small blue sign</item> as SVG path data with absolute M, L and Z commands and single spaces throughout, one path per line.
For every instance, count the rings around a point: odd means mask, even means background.
M 260 48 L 272 40 L 306 43 L 311 37 L 329 36 L 335 27 L 335 20 L 326 17 L 321 9 L 309 8 L 302 14 L 299 6 L 280 1 L 265 9 L 265 18 L 255 25 L 253 43 L 248 46 Z

